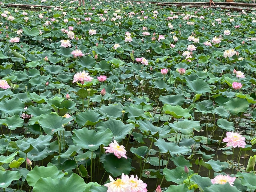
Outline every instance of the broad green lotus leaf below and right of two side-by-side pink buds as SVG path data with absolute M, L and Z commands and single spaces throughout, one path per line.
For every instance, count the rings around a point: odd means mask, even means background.
M 211 92 L 209 84 L 203 79 L 196 79 L 194 81 L 187 81 L 186 85 L 195 94 L 206 94 Z

